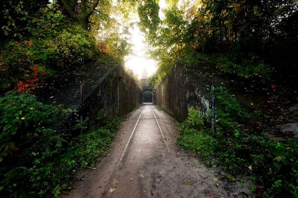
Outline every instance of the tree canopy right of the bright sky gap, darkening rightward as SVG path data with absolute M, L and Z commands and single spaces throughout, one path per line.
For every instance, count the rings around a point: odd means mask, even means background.
M 246 78 L 269 80 L 274 69 L 297 74 L 296 0 L 168 0 L 160 21 L 158 12 L 150 11 L 157 6 L 138 5 L 139 25 L 160 65 L 153 82 L 163 79 L 175 61 L 190 64 L 212 54 L 212 62 Z M 155 19 L 154 25 L 146 19 Z

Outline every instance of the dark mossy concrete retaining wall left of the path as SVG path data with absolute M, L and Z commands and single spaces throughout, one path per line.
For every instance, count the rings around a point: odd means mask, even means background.
M 105 117 L 124 115 L 141 104 L 142 90 L 122 66 L 115 64 L 84 95 L 83 116 L 94 119 L 102 109 Z

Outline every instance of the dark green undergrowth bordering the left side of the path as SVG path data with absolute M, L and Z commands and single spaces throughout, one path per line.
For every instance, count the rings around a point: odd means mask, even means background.
M 76 135 L 60 119 L 73 113 L 37 102 L 30 94 L 10 92 L 0 98 L 0 197 L 57 197 L 69 189 L 74 170 L 95 165 L 121 119 L 102 120 Z

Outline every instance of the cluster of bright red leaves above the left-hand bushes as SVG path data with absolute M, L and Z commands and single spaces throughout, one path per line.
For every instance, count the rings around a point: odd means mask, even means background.
M 34 89 L 36 87 L 36 82 L 39 80 L 38 76 L 46 75 L 45 71 L 38 70 L 39 65 L 32 65 L 29 68 L 33 71 L 32 79 L 27 78 L 25 79 L 25 82 L 19 81 L 17 85 L 18 92 Z

